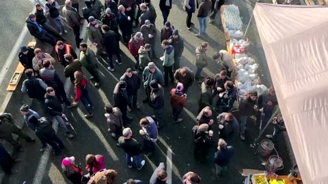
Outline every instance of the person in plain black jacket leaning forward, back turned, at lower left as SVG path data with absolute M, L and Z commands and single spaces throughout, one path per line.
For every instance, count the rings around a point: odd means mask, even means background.
M 36 126 L 36 136 L 38 136 L 40 141 L 51 145 L 54 149 L 54 155 L 61 155 L 65 145 L 57 137 L 55 129 L 51 126 L 51 122 L 45 117 L 37 119 L 34 115 L 31 115 L 28 121 Z

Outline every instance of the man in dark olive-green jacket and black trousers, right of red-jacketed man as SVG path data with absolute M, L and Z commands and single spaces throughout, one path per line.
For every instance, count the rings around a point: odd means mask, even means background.
M 96 83 L 94 84 L 94 87 L 99 87 L 100 85 L 100 76 L 98 72 L 98 66 L 97 66 L 97 58 L 94 54 L 94 51 L 87 46 L 85 43 L 80 44 L 80 61 L 82 65 L 85 67 L 87 72 L 89 72 L 92 77 L 90 80 L 96 80 Z

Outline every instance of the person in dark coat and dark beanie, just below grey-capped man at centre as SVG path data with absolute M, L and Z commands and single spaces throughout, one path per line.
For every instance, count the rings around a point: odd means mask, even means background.
M 148 104 L 154 110 L 154 115 L 158 121 L 157 128 L 160 128 L 163 126 L 164 119 L 164 90 L 156 80 L 152 80 L 149 85 L 152 91 L 150 92 L 150 100 Z

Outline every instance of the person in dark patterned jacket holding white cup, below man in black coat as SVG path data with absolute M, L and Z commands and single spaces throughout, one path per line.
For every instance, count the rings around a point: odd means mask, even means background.
M 105 106 L 105 117 L 107 118 L 108 132 L 116 140 L 122 134 L 122 129 L 124 129 L 122 112 L 120 108 L 112 107 L 111 105 Z

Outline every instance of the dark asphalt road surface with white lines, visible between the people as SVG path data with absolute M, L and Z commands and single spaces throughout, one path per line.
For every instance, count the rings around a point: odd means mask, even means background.
M 14 14 L 15 18 L 10 17 L 13 20 L 10 27 L 12 29 L 10 31 L 5 31 L 4 33 L 8 34 L 8 37 L 12 35 L 12 39 L 20 33 L 22 29 L 25 17 L 30 12 L 27 10 L 27 7 L 31 6 L 29 1 L 24 1 L 26 3 L 23 5 L 22 2 L 16 2 L 16 9 L 19 8 L 19 14 Z M 210 44 L 210 48 L 208 49 L 208 56 L 214 54 L 215 50 L 221 50 L 226 48 L 226 43 L 224 40 L 223 30 L 221 25 L 219 24 L 219 15 L 217 15 L 217 21 L 210 25 L 208 24 L 207 36 L 200 39 L 195 37 L 195 33 L 197 33 L 197 19 L 193 16 L 193 22 L 195 23 L 195 27 L 188 31 L 185 26 L 185 18 L 187 14 L 185 14 L 184 10 L 182 10 L 182 1 L 174 1 L 174 5 L 172 5 L 172 11 L 169 14 L 168 20 L 172 22 L 174 27 L 179 30 L 181 37 L 184 39 L 184 52 L 181 58 L 181 65 L 188 66 L 191 70 L 195 71 L 195 48 L 201 44 L 203 41 L 207 41 Z M 227 3 L 232 3 L 232 1 L 228 1 Z M 17 7 L 18 5 L 18 7 Z M 83 3 L 80 2 L 80 5 Z M 244 27 L 247 26 L 247 22 L 251 15 L 251 7 L 254 6 L 254 2 L 251 1 L 238 1 L 236 5 L 241 9 L 241 16 L 243 17 Z M 156 27 L 158 30 L 161 29 L 163 25 L 163 18 L 161 16 L 161 12 L 159 10 L 158 3 L 154 3 L 157 12 L 157 20 Z M 6 11 L 7 14 L 12 15 L 12 12 L 9 12 L 8 8 L 12 8 L 13 6 L 8 5 L 8 7 L 0 7 L 1 12 Z M 20 11 L 25 10 L 25 11 Z M 195 14 L 194 14 L 195 15 Z M 2 20 L 1 21 L 6 21 Z M 13 25 L 13 23 L 16 25 Z M 6 27 L 7 26 L 7 27 Z M 15 28 L 14 28 L 15 27 Z M 1 30 L 8 29 L 7 24 L 1 24 Z M 245 30 L 245 29 L 244 29 Z M 15 33 L 15 31 L 17 33 Z M 160 32 L 158 32 L 159 35 Z M 253 22 L 250 26 L 248 36 L 251 39 L 251 47 L 249 48 L 249 52 L 252 55 L 256 56 L 256 61 L 258 61 L 264 71 L 264 82 L 266 85 L 269 85 L 269 73 L 267 72 L 265 57 L 263 54 L 262 47 L 260 46 L 260 40 L 258 38 L 258 33 L 256 31 L 255 22 Z M 25 37 L 25 40 L 29 41 L 31 37 Z M 5 36 L 0 38 L 1 42 L 6 39 Z M 26 41 L 26 42 L 27 42 Z M 10 43 L 8 43 L 9 45 Z M 8 46 L 7 45 L 7 46 Z M 64 144 L 66 144 L 66 150 L 63 155 L 53 156 L 51 155 L 49 158 L 49 162 L 46 162 L 43 166 L 39 166 L 40 159 L 42 159 L 42 153 L 38 150 L 40 149 L 40 142 L 38 140 L 35 143 L 31 142 L 23 142 L 25 147 L 25 151 L 23 153 L 19 153 L 17 156 L 23 159 L 23 162 L 16 165 L 15 168 L 19 170 L 19 174 L 15 174 L 12 176 L 5 177 L 4 183 L 23 183 L 26 181 L 27 184 L 30 183 L 69 183 L 68 180 L 61 174 L 61 159 L 64 157 L 70 157 L 74 155 L 76 158 L 76 163 L 79 164 L 82 168 L 85 168 L 85 155 L 92 154 L 101 154 L 105 156 L 105 166 L 106 168 L 115 169 L 118 172 L 119 183 L 124 183 L 127 179 L 140 179 L 144 183 L 148 183 L 150 176 L 156 166 L 159 165 L 160 162 L 164 162 L 165 166 L 167 163 L 170 164 L 172 162 L 172 174 L 170 177 L 170 183 L 181 183 L 181 178 L 183 174 L 189 171 L 196 172 L 200 174 L 204 183 L 206 184 L 214 184 L 214 183 L 241 183 L 241 170 L 243 168 L 252 168 L 263 170 L 264 168 L 261 166 L 261 158 L 258 156 L 254 156 L 254 149 L 249 147 L 249 144 L 252 143 L 254 138 L 258 134 L 258 125 L 254 125 L 249 122 L 249 127 L 247 129 L 245 142 L 241 142 L 239 138 L 235 140 L 228 141 L 228 144 L 232 145 L 235 148 L 235 155 L 230 163 L 230 167 L 228 169 L 228 174 L 225 177 L 217 178 L 215 177 L 215 166 L 213 164 L 213 154 L 215 153 L 217 147 L 217 131 L 218 127 L 215 124 L 214 127 L 214 144 L 210 148 L 208 152 L 208 162 L 206 164 L 200 164 L 195 161 L 193 158 L 193 140 L 191 136 L 191 128 L 195 125 L 195 116 L 197 113 L 197 99 L 200 95 L 200 85 L 194 83 L 191 89 L 189 90 L 187 97 L 187 108 L 185 108 L 183 113 L 184 121 L 182 123 L 174 123 L 172 120 L 172 108 L 169 105 L 169 90 L 173 88 L 173 86 L 165 88 L 165 126 L 160 129 L 159 136 L 161 137 L 156 145 L 156 151 L 154 157 L 148 158 L 143 156 L 143 159 L 146 160 L 146 166 L 142 170 L 137 170 L 135 168 L 128 168 L 125 162 L 124 151 L 115 146 L 115 140 L 111 138 L 109 132 L 107 132 L 107 124 L 106 119 L 104 117 L 104 106 L 105 104 L 112 104 L 112 95 L 115 84 L 118 82 L 118 78 L 124 74 L 127 67 L 133 66 L 133 57 L 129 54 L 127 48 L 124 45 L 120 45 L 122 52 L 122 65 L 115 65 L 115 71 L 109 72 L 107 70 L 107 63 L 105 61 L 100 61 L 98 63 L 100 70 L 100 78 L 101 84 L 100 88 L 96 89 L 92 82 L 90 81 L 88 85 L 88 89 L 90 91 L 90 95 L 92 98 L 92 102 L 94 103 L 94 117 L 91 119 L 85 119 L 83 114 L 85 114 L 85 109 L 82 104 L 79 103 L 77 108 L 66 109 L 65 113 L 70 119 L 70 122 L 75 127 L 77 131 L 77 136 L 68 140 L 64 137 L 64 135 L 59 131 L 57 134 L 61 140 L 64 140 Z M 3 46 L 4 47 L 4 46 Z M 4 48 L 3 48 L 4 49 Z M 7 51 L 7 50 L 6 50 Z M 8 52 L 10 52 L 10 48 L 8 48 Z M 1 52 L 1 60 L 5 59 L 8 56 L 5 56 L 5 53 Z M 160 43 L 156 43 L 156 55 L 160 57 L 163 54 L 163 50 L 160 48 Z M 161 61 L 156 60 L 156 65 L 158 65 L 161 69 Z M 217 72 L 219 72 L 220 68 L 216 65 L 215 61 L 209 59 L 209 65 L 206 70 L 204 70 L 204 75 L 206 76 L 214 76 Z M 0 66 L 1 67 L 1 66 Z M 64 68 L 61 65 L 56 64 L 55 69 L 62 74 Z M 84 72 L 87 77 L 90 77 L 88 72 Z M 64 76 L 62 77 L 63 80 Z M 8 79 L 9 80 L 9 79 Z M 69 96 L 72 97 L 73 91 L 72 87 L 70 88 Z M 128 124 L 133 129 L 134 135 L 133 137 L 141 142 L 142 138 L 138 134 L 139 132 L 139 119 L 146 115 L 152 115 L 152 109 L 147 104 L 142 104 L 141 100 L 144 97 L 143 89 L 139 90 L 139 99 L 138 102 L 141 106 L 141 110 L 133 110 L 133 112 L 128 113 L 129 116 L 133 117 L 133 121 Z M 41 104 L 36 102 L 31 106 L 33 110 L 39 112 L 39 114 L 44 115 L 45 112 L 42 108 Z M 214 114 L 216 115 L 216 114 Z M 29 134 L 33 134 L 33 132 L 29 131 L 27 127 L 25 130 L 29 132 Z M 269 129 L 270 131 L 270 129 Z M 284 144 L 279 145 L 284 150 Z M 172 160 L 169 153 L 172 151 Z M 279 150 L 278 150 L 279 151 Z M 288 155 L 284 155 L 284 151 L 281 151 L 279 154 L 283 157 L 283 159 L 287 159 Z M 40 168 L 44 168 L 40 170 Z M 41 174 L 40 173 L 43 173 Z M 86 174 L 86 172 L 85 172 Z M 40 182 L 37 182 L 40 181 Z

